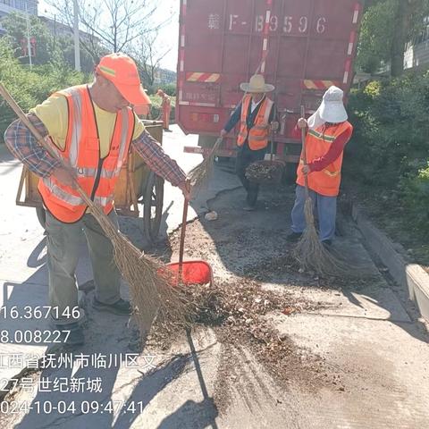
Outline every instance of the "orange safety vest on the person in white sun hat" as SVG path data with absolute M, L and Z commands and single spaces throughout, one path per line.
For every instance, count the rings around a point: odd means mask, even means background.
M 306 138 L 307 163 L 310 164 L 315 159 L 324 156 L 333 141 L 349 128 L 353 130 L 351 123 L 346 121 L 325 130 L 324 126 L 315 130 L 308 130 Z M 310 172 L 307 176 L 308 188 L 325 197 L 336 197 L 340 192 L 342 156 L 343 153 L 341 152 L 341 155 L 321 172 Z M 305 176 L 302 172 L 303 164 L 304 160 L 301 154 L 297 171 L 297 183 L 300 186 L 305 186 Z

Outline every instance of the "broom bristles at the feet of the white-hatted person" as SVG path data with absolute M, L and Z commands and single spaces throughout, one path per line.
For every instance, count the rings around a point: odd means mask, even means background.
M 342 277 L 353 273 L 345 261 L 332 255 L 320 242 L 315 230 L 313 201 L 309 197 L 306 199 L 304 214 L 307 227 L 293 251 L 293 257 L 297 259 L 300 267 L 305 271 L 313 271 L 321 276 Z

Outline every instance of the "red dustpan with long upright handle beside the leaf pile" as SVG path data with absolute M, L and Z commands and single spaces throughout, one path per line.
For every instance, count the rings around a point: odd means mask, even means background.
M 212 284 L 212 267 L 205 261 L 183 261 L 185 248 L 186 220 L 188 217 L 189 199 L 185 198 L 183 204 L 183 217 L 181 220 L 181 247 L 179 248 L 179 262 L 167 264 L 168 275 L 172 285 L 177 284 Z

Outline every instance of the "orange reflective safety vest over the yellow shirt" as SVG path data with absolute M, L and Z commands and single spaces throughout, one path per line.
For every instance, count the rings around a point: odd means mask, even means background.
M 129 107 L 118 112 L 109 154 L 100 158 L 97 120 L 88 87 L 71 87 L 58 94 L 67 100 L 68 129 L 64 149 L 54 145 L 53 148 L 76 172 L 77 181 L 88 197 L 109 214 L 114 208 L 114 186 L 134 132 L 134 114 Z M 49 212 L 63 223 L 79 221 L 88 208 L 77 190 L 54 175 L 41 178 L 38 190 Z

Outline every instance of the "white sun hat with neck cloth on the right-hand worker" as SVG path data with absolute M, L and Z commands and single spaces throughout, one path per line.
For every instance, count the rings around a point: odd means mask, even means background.
M 315 111 L 315 114 L 312 114 L 308 120 L 308 128 L 310 130 L 315 130 L 315 128 L 320 127 L 325 122 L 330 123 L 341 123 L 347 121 L 348 115 L 342 98 L 344 97 L 344 92 L 341 88 L 332 86 L 324 93 L 324 98 L 321 105 Z

